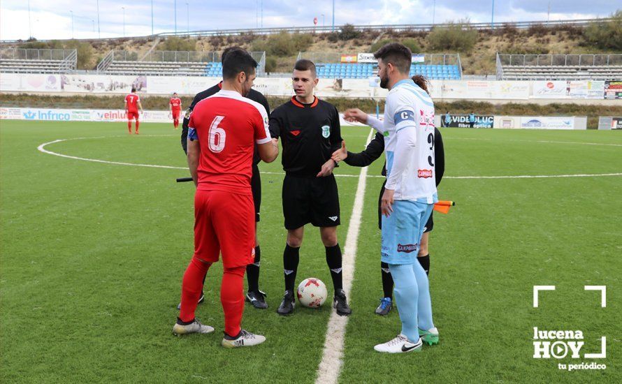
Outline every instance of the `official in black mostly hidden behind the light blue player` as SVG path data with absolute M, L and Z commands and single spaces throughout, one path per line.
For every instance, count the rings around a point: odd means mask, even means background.
M 415 75 L 412 77 L 412 81 L 417 84 L 421 89 L 428 92 L 428 82 L 421 75 Z M 428 92 L 429 94 L 429 92 Z M 367 115 L 364 114 L 361 110 L 348 110 L 346 115 L 356 115 L 360 119 L 356 119 L 357 121 L 363 122 L 367 121 Z M 363 121 L 361 121 L 363 120 Z M 440 183 L 440 180 L 443 177 L 445 172 L 445 152 L 442 141 L 442 135 L 437 128 L 434 128 L 434 167 L 435 167 L 435 182 L 436 186 Z M 379 158 L 384 152 L 384 136 L 382 133 L 376 133 L 373 140 L 369 142 L 366 149 L 363 152 L 359 152 L 358 154 L 354 154 L 349 152 L 345 148 L 345 143 L 342 144 L 342 147 L 333 153 L 332 158 L 335 161 L 345 161 L 347 165 L 352 165 L 354 167 L 366 167 L 373 163 L 377 158 Z M 386 176 L 386 162 L 382 166 L 382 176 Z M 380 189 L 380 196 L 378 198 L 378 228 L 382 227 L 381 220 L 381 212 L 380 212 L 380 202 L 382 200 L 382 195 L 384 194 L 384 184 L 386 184 L 386 179 L 382 183 L 382 189 Z M 434 220 L 433 215 L 430 215 L 430 219 L 428 219 L 426 226 L 424 227 L 424 235 L 421 237 L 419 253 L 417 254 L 417 261 L 421 264 L 421 267 L 424 268 L 426 274 L 430 272 L 430 253 L 428 252 L 428 244 L 429 244 L 429 233 L 432 232 L 434 228 Z M 382 229 L 382 228 L 381 228 Z M 380 300 L 380 304 L 376 308 L 376 313 L 381 316 L 385 316 L 389 314 L 391 311 L 391 307 L 393 307 L 393 276 L 391 276 L 391 272 L 389 271 L 389 265 L 386 263 L 380 262 L 380 272 L 382 274 L 382 290 L 384 291 L 384 297 Z

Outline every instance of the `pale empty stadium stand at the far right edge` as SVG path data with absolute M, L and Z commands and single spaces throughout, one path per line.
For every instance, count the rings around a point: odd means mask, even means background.
M 620 80 L 622 54 L 497 54 L 497 80 Z

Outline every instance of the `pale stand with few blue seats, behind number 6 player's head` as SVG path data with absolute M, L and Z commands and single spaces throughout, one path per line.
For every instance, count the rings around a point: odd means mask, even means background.
M 258 75 L 266 67 L 266 52 L 250 52 L 259 63 Z M 210 76 L 222 75 L 218 52 L 154 51 L 140 60 L 136 52 L 112 50 L 99 64 L 98 73 L 151 76 Z

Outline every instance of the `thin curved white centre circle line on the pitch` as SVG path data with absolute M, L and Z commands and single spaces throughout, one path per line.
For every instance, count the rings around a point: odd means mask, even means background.
M 172 135 L 145 135 L 143 137 L 159 137 L 159 136 L 172 136 Z M 155 165 L 155 164 L 140 164 L 140 163 L 124 163 L 122 161 L 108 161 L 108 160 L 99 160 L 97 158 L 86 158 L 79 156 L 70 156 L 66 154 L 59 154 L 58 152 L 52 152 L 48 149 L 45 149 L 46 145 L 55 144 L 57 142 L 65 142 L 69 140 L 85 140 L 85 139 L 101 139 L 101 138 L 122 138 L 125 136 L 95 136 L 92 138 L 72 138 L 72 139 L 58 139 L 50 142 L 44 142 L 42 145 L 37 147 L 39 152 L 43 152 L 44 154 L 50 154 L 53 156 L 59 156 L 64 158 L 71 158 L 73 160 L 80 161 L 91 161 L 93 163 L 105 163 L 105 164 L 113 164 L 113 165 L 129 165 L 132 167 L 147 167 L 147 168 L 165 168 L 165 169 L 173 169 L 173 170 L 187 170 L 187 167 L 175 167 L 172 165 Z M 514 140 L 519 141 L 519 140 Z M 587 144 L 587 145 L 614 145 L 614 144 L 598 144 L 598 143 L 574 143 L 574 142 L 566 142 L 565 144 Z M 263 175 L 285 175 L 284 172 L 261 172 Z M 361 175 L 335 175 L 337 177 L 361 177 Z M 507 175 L 507 176 L 444 176 L 443 179 L 547 179 L 551 177 L 609 177 L 609 176 L 622 176 L 622 172 L 618 173 L 581 173 L 575 175 Z M 367 175 L 365 177 L 375 177 L 382 178 L 384 176 L 381 175 Z

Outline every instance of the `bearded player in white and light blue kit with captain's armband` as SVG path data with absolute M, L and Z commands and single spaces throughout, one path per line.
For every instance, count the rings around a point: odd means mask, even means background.
M 423 342 L 438 343 L 428 276 L 417 261 L 424 226 L 438 201 L 434 103 L 409 77 L 412 56 L 407 47 L 387 44 L 374 56 L 378 59 L 380 87 L 389 89 L 389 95 L 384 122 L 372 116 L 365 122 L 384 135 L 387 175 L 381 203 L 381 260 L 391 269 L 402 322 L 396 338 L 374 349 L 404 353 L 421 350 Z M 345 117 L 349 118 L 347 113 Z

